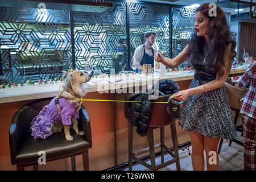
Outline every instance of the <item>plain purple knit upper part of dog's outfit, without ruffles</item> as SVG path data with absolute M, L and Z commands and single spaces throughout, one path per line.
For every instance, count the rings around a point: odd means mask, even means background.
M 63 125 L 72 125 L 72 118 L 79 118 L 79 112 L 76 112 L 76 104 L 69 103 L 64 97 L 59 98 L 59 104 L 61 109 L 60 115 L 55 104 L 55 98 L 53 98 L 46 110 L 46 119 L 52 123 L 62 121 Z

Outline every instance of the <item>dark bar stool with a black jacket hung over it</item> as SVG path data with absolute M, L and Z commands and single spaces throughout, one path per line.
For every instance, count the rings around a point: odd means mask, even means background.
M 157 100 L 152 100 L 154 102 L 166 102 L 168 100 L 167 96 L 159 96 Z M 148 148 L 144 148 L 141 151 L 133 152 L 133 124 L 131 123 L 131 110 L 128 107 L 127 102 L 125 103 L 125 117 L 128 119 L 128 151 L 129 151 L 129 170 L 132 169 L 132 160 L 135 160 L 139 164 L 142 164 L 144 167 L 151 169 L 152 171 L 161 169 L 163 167 L 169 166 L 172 163 L 176 163 L 177 171 L 180 171 L 180 162 L 179 162 L 179 150 L 177 145 L 177 134 L 175 121 L 177 118 L 172 117 L 167 112 L 167 104 L 151 104 L 151 117 L 150 124 L 148 127 Z M 174 146 L 174 152 L 164 144 L 164 126 L 170 125 L 171 134 L 172 134 L 172 143 Z M 153 130 L 160 127 L 160 144 L 154 145 L 154 135 Z M 160 147 L 161 152 L 161 164 L 155 164 L 155 149 Z M 144 152 L 150 152 L 150 161 L 151 165 L 143 162 L 141 159 L 137 158 L 137 155 L 143 154 Z M 164 162 L 164 151 L 167 151 L 171 156 L 172 160 Z

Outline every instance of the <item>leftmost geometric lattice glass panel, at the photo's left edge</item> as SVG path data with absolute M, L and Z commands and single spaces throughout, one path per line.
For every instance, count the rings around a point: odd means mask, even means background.
M 69 11 L 0 7 L 3 76 L 49 79 L 72 68 Z

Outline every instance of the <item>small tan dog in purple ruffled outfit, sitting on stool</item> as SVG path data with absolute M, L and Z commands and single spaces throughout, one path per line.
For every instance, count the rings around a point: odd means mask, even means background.
M 86 87 L 83 84 L 88 82 L 92 75 L 74 71 L 64 72 L 64 76 L 67 78 L 61 93 L 53 98 L 49 105 L 44 106 L 31 123 L 31 135 L 34 138 L 46 139 L 64 127 L 65 139 L 71 141 L 73 137 L 69 133 L 69 127 L 72 124 L 76 134 L 84 134 L 78 129 L 77 118 L 82 104 L 80 99 L 86 94 Z

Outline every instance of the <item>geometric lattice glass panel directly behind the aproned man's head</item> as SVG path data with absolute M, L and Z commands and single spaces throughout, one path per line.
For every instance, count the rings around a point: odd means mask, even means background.
M 154 48 L 160 49 L 168 57 L 170 54 L 170 10 L 169 6 L 144 5 L 130 3 L 130 48 L 134 54 L 135 49 L 142 45 L 144 33 L 156 33 Z

